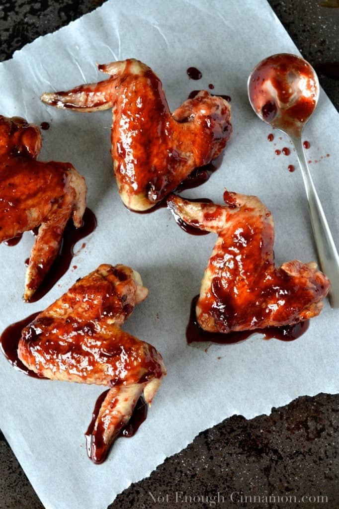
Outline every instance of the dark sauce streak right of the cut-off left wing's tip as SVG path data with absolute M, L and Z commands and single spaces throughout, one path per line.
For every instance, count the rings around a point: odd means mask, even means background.
M 31 297 L 29 302 L 36 302 L 41 299 L 46 293 L 55 285 L 55 283 L 65 274 L 69 268 L 72 258 L 74 256 L 74 245 L 84 237 L 87 237 L 92 233 L 97 225 L 97 220 L 91 209 L 86 208 L 83 218 L 82 226 L 75 228 L 73 221 L 70 219 L 66 225 L 61 249 L 58 257 L 51 266 L 45 279 L 42 281 L 41 286 Z

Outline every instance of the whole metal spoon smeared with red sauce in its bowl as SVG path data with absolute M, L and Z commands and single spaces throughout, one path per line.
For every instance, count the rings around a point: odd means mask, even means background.
M 248 98 L 258 117 L 288 134 L 305 184 L 309 215 L 320 265 L 331 281 L 329 301 L 339 307 L 339 256 L 302 149 L 301 133 L 319 98 L 318 76 L 300 56 L 278 53 L 261 61 L 247 82 Z

